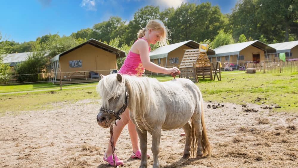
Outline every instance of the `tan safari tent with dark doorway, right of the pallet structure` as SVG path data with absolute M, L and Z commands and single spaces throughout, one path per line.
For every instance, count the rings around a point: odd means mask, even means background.
M 211 61 L 220 61 L 221 64 L 224 64 L 224 62 L 233 63 L 235 66 L 241 66 L 244 62 L 267 60 L 266 55 L 276 52 L 275 48 L 259 40 L 223 45 L 214 50 L 215 56 L 209 56 Z

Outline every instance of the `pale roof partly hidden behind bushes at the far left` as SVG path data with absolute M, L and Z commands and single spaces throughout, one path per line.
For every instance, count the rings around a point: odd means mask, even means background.
M 3 63 L 10 63 L 10 66 L 15 66 L 15 64 L 19 62 L 26 61 L 31 53 L 33 52 L 13 53 L 4 55 Z

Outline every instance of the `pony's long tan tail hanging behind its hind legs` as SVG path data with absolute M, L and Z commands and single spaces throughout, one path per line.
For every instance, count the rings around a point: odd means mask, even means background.
M 202 94 L 201 95 L 201 124 L 202 124 L 202 147 L 203 147 L 203 156 L 211 156 L 212 155 L 212 148 L 209 144 L 208 137 L 207 137 L 207 132 L 205 128 L 205 123 L 204 123 L 204 104 L 203 104 L 203 98 Z

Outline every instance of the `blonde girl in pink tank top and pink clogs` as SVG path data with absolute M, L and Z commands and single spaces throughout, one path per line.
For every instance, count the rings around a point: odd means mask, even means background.
M 160 20 L 150 20 L 147 23 L 146 28 L 139 30 L 138 39 L 134 42 L 129 50 L 127 57 L 124 61 L 124 64 L 120 68 L 118 73 L 121 74 L 129 74 L 129 75 L 137 75 L 142 76 L 145 69 L 156 72 L 156 73 L 178 73 L 179 69 L 177 67 L 173 68 L 165 68 L 159 65 L 154 64 L 150 61 L 149 52 L 150 46 L 149 44 L 155 44 L 159 41 L 159 45 L 167 45 L 167 34 L 168 29 L 164 26 L 162 21 Z M 121 134 L 122 129 L 128 124 L 128 132 L 131 138 L 131 144 L 133 148 L 133 152 L 131 154 L 131 158 L 141 158 L 141 151 L 139 147 L 138 134 L 136 132 L 135 125 L 131 122 L 129 118 L 129 110 L 126 109 L 122 115 L 121 120 L 117 121 L 117 126 L 114 125 L 114 145 L 116 146 L 116 142 Z M 150 155 L 147 154 L 149 158 Z M 109 164 L 114 166 L 112 159 L 112 147 L 109 141 L 107 151 L 103 157 L 104 161 L 107 161 Z M 115 154 L 115 163 L 116 165 L 123 165 L 123 161 L 121 161 Z

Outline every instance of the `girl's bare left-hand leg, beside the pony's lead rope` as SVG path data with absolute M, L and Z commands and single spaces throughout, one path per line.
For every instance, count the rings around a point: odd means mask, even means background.
M 118 140 L 123 128 L 130 121 L 128 108 L 126 108 L 126 110 L 120 115 L 120 118 L 121 118 L 121 120 L 118 120 L 116 122 L 117 126 L 114 125 L 114 127 L 113 127 L 113 131 L 114 131 L 113 136 L 114 136 L 114 145 L 115 145 L 115 147 L 116 147 L 117 140 Z M 136 137 L 136 138 L 138 138 L 138 137 Z M 105 152 L 107 157 L 111 156 L 113 154 L 110 141 L 111 140 L 109 140 L 108 148 L 107 148 L 107 151 Z

